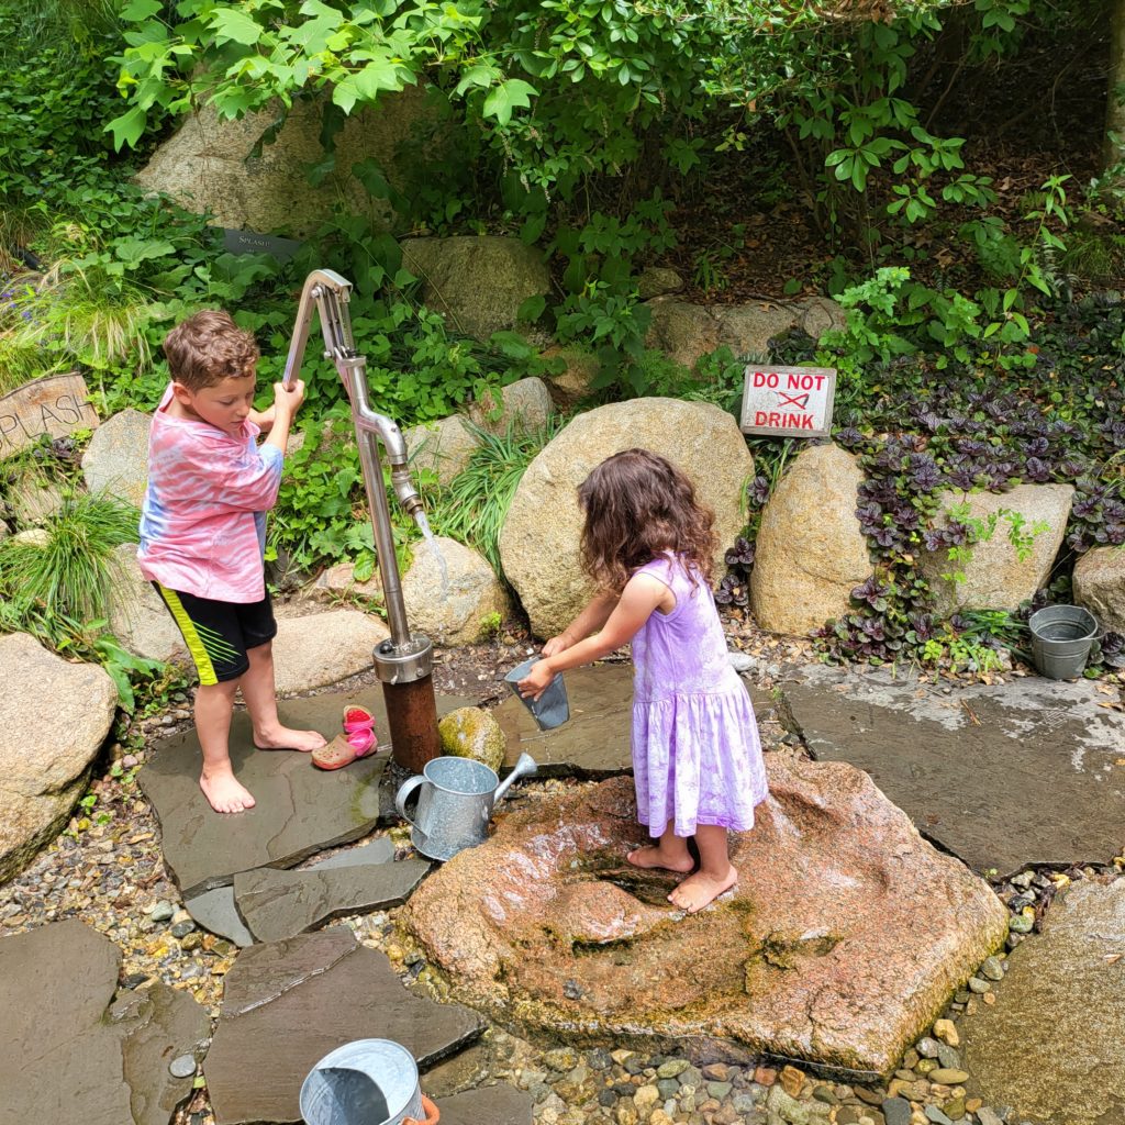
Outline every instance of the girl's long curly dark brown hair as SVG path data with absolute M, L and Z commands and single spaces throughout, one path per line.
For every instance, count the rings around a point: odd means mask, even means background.
M 714 513 L 658 453 L 627 449 L 608 457 L 579 485 L 578 503 L 586 513 L 582 568 L 600 586 L 620 593 L 638 567 L 664 551 L 682 555 L 710 582 Z

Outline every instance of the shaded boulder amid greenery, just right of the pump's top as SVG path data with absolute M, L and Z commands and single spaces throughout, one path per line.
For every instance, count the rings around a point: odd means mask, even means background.
M 519 238 L 404 238 L 402 246 L 403 266 L 422 278 L 423 303 L 477 340 L 514 327 L 520 305 L 551 290 L 542 252 Z

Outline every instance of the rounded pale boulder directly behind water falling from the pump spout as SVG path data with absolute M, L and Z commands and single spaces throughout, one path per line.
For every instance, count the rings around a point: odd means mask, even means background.
M 471 547 L 434 538 L 414 548 L 414 561 L 403 575 L 403 601 L 411 628 L 435 645 L 471 645 L 511 612 L 504 585 L 488 560 Z

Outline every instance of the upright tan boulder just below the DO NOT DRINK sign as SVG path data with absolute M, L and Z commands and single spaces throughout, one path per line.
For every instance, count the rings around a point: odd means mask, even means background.
M 750 609 L 763 629 L 806 633 L 850 608 L 872 572 L 856 519 L 863 470 L 838 446 L 802 450 L 762 513 Z

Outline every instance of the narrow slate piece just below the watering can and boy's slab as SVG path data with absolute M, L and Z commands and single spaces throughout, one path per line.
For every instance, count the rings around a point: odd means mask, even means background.
M 259 942 L 280 942 L 341 915 L 402 906 L 430 867 L 424 860 L 260 867 L 234 876 L 234 900 Z

